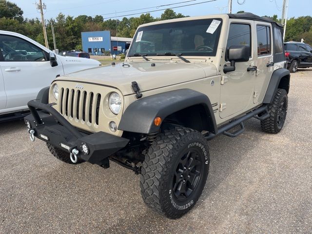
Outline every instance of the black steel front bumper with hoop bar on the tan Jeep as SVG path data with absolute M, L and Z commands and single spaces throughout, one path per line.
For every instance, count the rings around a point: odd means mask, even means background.
M 78 149 L 78 157 L 92 164 L 107 164 L 109 156 L 125 147 L 129 140 L 117 137 L 104 132 L 85 134 L 78 131 L 53 107 L 53 104 L 43 104 L 32 100 L 28 102 L 31 114 L 24 117 L 26 125 L 30 130 L 34 130 L 34 136 L 58 147 L 59 149 L 71 153 L 73 149 Z M 44 110 L 49 114 L 36 110 Z M 84 153 L 82 145 L 85 144 L 89 151 Z

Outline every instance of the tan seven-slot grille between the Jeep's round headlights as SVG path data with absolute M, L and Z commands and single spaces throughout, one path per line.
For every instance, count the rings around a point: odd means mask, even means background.
M 63 116 L 98 125 L 100 94 L 68 88 L 60 89 L 59 110 Z

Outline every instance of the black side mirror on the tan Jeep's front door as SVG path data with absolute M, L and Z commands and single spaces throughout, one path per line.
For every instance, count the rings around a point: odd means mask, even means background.
M 248 45 L 232 45 L 227 54 L 231 65 L 224 65 L 224 73 L 235 71 L 235 62 L 247 62 L 250 57 L 250 47 Z

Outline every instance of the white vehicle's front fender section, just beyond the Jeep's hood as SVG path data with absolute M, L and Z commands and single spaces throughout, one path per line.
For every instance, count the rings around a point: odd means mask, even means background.
M 101 65 L 101 63 L 95 59 L 68 57 L 60 55 L 57 55 L 57 61 L 61 61 L 65 75 L 92 67 L 98 67 Z

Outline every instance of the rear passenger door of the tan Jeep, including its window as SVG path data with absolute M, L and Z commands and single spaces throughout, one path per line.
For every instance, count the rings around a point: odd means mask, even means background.
M 255 21 L 255 30 L 257 40 L 257 72 L 255 74 L 254 84 L 254 103 L 258 103 L 264 98 L 266 87 L 268 87 L 274 71 L 274 63 L 271 23 Z

